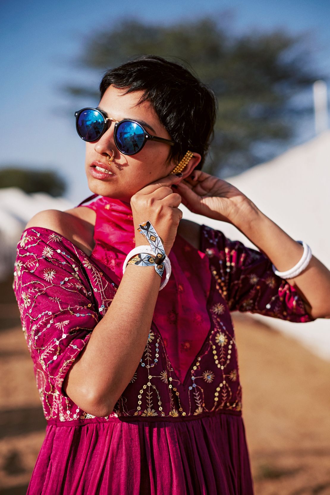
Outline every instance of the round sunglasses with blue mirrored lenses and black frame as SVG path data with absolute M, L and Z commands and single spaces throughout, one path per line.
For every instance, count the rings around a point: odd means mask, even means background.
M 114 142 L 121 153 L 132 155 L 141 151 L 145 143 L 149 140 L 159 141 L 174 146 L 175 141 L 158 136 L 152 136 L 136 120 L 115 120 L 105 117 L 96 108 L 82 108 L 75 112 L 76 129 L 84 141 L 92 142 L 99 139 L 108 127 L 108 120 L 115 122 L 113 132 Z

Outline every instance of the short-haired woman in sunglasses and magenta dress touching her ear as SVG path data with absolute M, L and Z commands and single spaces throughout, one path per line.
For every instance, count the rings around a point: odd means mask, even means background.
M 187 69 L 140 57 L 100 96 L 76 112 L 94 195 L 38 213 L 17 246 L 47 419 L 28 493 L 253 494 L 230 313 L 329 317 L 330 272 L 201 170 L 215 99 Z M 260 251 L 183 220 L 181 202 Z

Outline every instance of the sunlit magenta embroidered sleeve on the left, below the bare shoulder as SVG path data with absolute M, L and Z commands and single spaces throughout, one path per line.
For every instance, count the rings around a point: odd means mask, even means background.
M 35 373 L 43 370 L 50 385 L 66 396 L 63 380 L 99 317 L 82 262 L 62 242 L 49 230 L 25 230 L 12 287 Z

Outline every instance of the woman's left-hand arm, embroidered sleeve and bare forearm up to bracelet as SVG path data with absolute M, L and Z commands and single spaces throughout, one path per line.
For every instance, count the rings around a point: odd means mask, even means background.
M 107 416 L 141 360 L 161 278 L 153 266 L 128 264 L 118 289 L 109 284 L 100 320 L 89 283 L 97 269 L 81 263 L 58 227 L 27 227 L 18 242 L 13 290 L 22 329 L 50 416 L 53 407 L 71 409 L 69 399 Z

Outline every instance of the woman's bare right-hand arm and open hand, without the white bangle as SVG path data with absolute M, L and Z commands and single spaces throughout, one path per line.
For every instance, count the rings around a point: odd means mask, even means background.
M 264 215 L 239 189 L 202 170 L 178 184 L 190 211 L 236 226 L 276 266 L 284 271 L 301 258 L 303 247 Z M 303 273 L 287 280 L 306 302 L 313 318 L 330 318 L 330 271 L 315 256 Z

